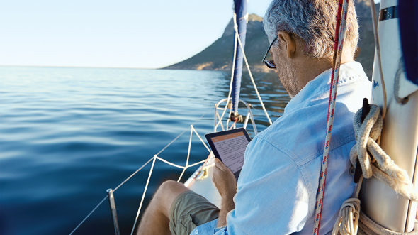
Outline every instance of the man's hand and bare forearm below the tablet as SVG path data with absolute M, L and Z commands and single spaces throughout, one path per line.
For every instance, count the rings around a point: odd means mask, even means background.
M 235 209 L 233 199 L 237 193 L 237 180 L 235 180 L 235 176 L 232 174 L 232 171 L 223 165 L 218 158 L 215 158 L 212 180 L 222 197 L 217 224 L 218 227 L 221 227 L 227 225 L 228 212 Z

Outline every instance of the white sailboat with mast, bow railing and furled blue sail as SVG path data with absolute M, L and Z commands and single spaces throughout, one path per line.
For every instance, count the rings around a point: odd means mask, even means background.
M 349 0 L 341 0 L 340 2 L 342 3 L 343 1 L 348 2 Z M 375 16 L 374 2 L 371 0 L 371 13 L 373 16 L 373 26 L 375 28 L 376 48 L 373 65 L 372 96 L 365 97 L 371 104 L 379 106 L 380 110 L 382 110 L 383 130 L 378 140 L 380 141 L 380 148 L 390 156 L 395 165 L 400 169 L 405 170 L 410 180 L 409 183 L 413 185 L 413 191 L 417 190 L 418 185 L 417 12 L 418 4 L 416 1 L 404 0 L 398 2 L 396 0 L 382 0 L 380 3 L 378 22 L 376 22 L 377 17 Z M 246 129 L 249 122 L 251 122 L 254 133 L 258 133 L 254 122 L 254 116 L 252 115 L 252 105 L 239 99 L 243 64 L 247 67 L 249 77 L 251 78 L 256 94 L 259 97 L 259 102 L 264 109 L 264 114 L 266 114 L 269 123 L 272 123 L 261 97 L 259 96 L 259 92 L 256 89 L 256 84 L 244 53 L 248 17 L 247 0 L 235 0 L 235 43 L 230 92 L 228 97 L 221 99 L 215 104 L 214 132 L 235 129 L 238 125 L 242 125 L 242 127 Z M 244 116 L 239 114 L 239 104 L 241 104 L 241 107 L 244 107 L 240 110 L 246 110 Z M 224 125 L 225 119 L 226 124 Z M 338 121 L 338 119 L 335 119 L 334 121 Z M 180 178 L 183 176 L 186 168 L 201 164 L 198 170 L 184 182 L 184 185 L 220 207 L 220 195 L 211 180 L 215 158 L 203 139 L 199 136 L 196 129 L 191 125 L 191 136 L 193 133 L 200 138 L 200 141 L 202 141 L 203 145 L 208 149 L 208 158 L 203 159 L 198 163 L 189 164 L 187 157 L 186 165 L 181 166 L 159 158 L 158 154 L 154 155 L 153 158 L 145 163 L 145 165 L 149 163 L 152 164 L 147 185 L 145 186 L 145 192 L 147 190 L 149 178 L 152 177 L 152 169 L 156 160 L 162 160 L 167 164 L 183 169 Z M 189 154 L 190 143 L 188 156 Z M 135 173 L 141 170 L 145 165 L 142 165 Z M 377 166 L 377 163 L 375 163 L 375 165 Z M 135 175 L 135 173 L 130 175 L 130 177 Z M 120 185 L 129 180 L 130 177 Z M 120 187 L 120 185 L 118 187 Z M 115 190 L 117 190 L 118 187 L 116 187 Z M 360 187 L 358 188 L 360 189 Z M 113 191 L 114 190 L 108 190 L 108 195 L 94 208 L 94 210 L 108 199 L 111 207 L 115 234 L 120 234 Z M 135 231 L 145 192 L 142 195 L 140 207 L 137 211 L 131 234 Z M 417 215 L 417 202 L 398 194 L 392 187 L 389 187 L 388 184 L 385 184 L 375 177 L 364 179 L 358 197 L 361 200 L 361 212 L 357 212 L 355 215 L 357 222 L 359 219 L 358 217 L 360 217 L 360 221 L 358 222 L 358 231 L 356 228 L 354 234 L 357 232 L 358 234 L 405 234 L 409 232 L 418 232 L 415 220 Z M 323 203 L 327 203 L 326 198 L 324 198 Z M 94 210 L 92 212 L 94 212 Z M 89 217 L 89 215 L 79 224 L 79 226 Z M 339 226 L 340 225 L 341 223 Z M 76 231 L 79 226 L 77 226 L 74 231 Z M 72 231 L 72 234 L 74 231 Z

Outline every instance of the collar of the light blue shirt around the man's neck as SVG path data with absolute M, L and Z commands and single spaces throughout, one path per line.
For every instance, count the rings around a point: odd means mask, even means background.
M 354 61 L 344 63 L 341 65 L 339 70 L 339 86 L 348 82 L 351 78 L 362 78 L 367 80 L 367 76 L 359 62 Z M 293 99 L 290 99 L 290 102 L 286 105 L 284 114 L 293 111 L 299 104 L 305 102 L 306 99 L 310 99 L 313 95 L 329 91 L 331 84 L 331 72 L 332 69 L 325 70 L 313 80 L 307 82 L 305 87 L 303 87 L 303 89 L 301 89 L 300 92 L 293 97 Z

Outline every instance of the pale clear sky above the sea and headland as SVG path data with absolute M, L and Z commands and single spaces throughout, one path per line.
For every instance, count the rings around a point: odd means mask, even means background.
M 271 0 L 249 0 L 264 16 Z M 13 0 L 0 3 L 0 65 L 171 65 L 222 35 L 232 0 Z

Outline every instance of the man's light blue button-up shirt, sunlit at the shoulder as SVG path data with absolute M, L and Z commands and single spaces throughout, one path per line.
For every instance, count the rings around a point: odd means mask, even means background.
M 283 116 L 247 146 L 227 226 L 216 220 L 192 234 L 311 235 L 319 185 L 331 70 L 308 82 Z M 341 65 L 320 234 L 332 231 L 341 204 L 354 192 L 349 152 L 356 143 L 353 118 L 371 82 L 358 62 Z

